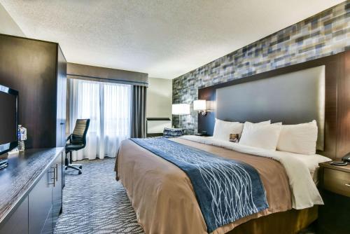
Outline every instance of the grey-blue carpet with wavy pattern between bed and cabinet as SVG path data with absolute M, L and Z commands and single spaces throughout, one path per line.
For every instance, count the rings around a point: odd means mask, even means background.
M 55 234 L 144 233 L 127 193 L 115 179 L 115 158 L 83 160 L 83 174 L 66 170 L 63 212 Z

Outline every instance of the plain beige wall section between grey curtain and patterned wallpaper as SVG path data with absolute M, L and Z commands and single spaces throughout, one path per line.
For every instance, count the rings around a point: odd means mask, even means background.
M 172 80 L 149 78 L 146 117 L 172 118 Z

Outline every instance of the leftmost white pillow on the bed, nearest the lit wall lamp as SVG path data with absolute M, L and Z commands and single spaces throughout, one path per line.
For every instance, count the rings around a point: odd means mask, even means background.
M 242 130 L 243 123 L 221 121 L 215 118 L 213 137 L 215 139 L 230 141 L 230 134 L 238 134 L 240 136 Z

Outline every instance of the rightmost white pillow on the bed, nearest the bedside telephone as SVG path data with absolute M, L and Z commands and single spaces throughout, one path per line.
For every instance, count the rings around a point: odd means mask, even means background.
M 315 154 L 316 142 L 316 121 L 296 125 L 282 125 L 277 150 L 300 154 Z

